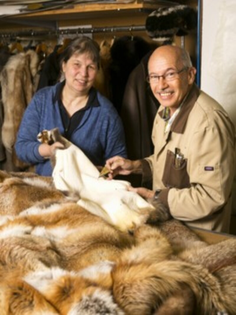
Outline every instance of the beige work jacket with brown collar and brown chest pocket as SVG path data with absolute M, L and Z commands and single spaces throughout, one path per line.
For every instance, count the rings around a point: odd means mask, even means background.
M 153 189 L 162 189 L 160 199 L 174 218 L 190 226 L 228 232 L 235 165 L 233 123 L 195 85 L 167 134 L 162 112 L 160 106 L 152 133 L 155 152 L 146 159 Z M 179 161 L 176 148 L 182 155 Z

